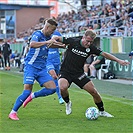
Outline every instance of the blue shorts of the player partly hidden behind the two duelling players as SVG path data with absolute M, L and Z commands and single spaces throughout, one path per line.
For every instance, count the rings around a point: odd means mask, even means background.
M 56 74 L 59 74 L 60 71 L 60 64 L 57 63 L 52 63 L 52 62 L 47 62 L 47 71 L 49 72 L 50 70 L 55 70 Z

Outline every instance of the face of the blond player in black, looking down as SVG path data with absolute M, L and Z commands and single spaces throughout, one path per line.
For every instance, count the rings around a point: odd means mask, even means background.
M 92 43 L 93 43 L 93 39 L 90 36 L 83 36 L 82 45 L 85 48 L 89 48 Z

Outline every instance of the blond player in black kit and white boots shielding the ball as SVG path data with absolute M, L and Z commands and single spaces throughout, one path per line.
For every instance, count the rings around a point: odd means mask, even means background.
M 84 73 L 83 66 L 86 59 L 91 54 L 96 54 L 97 56 L 102 55 L 107 59 L 118 62 L 121 65 L 128 65 L 129 62 L 118 59 L 117 57 L 103 52 L 100 49 L 95 47 L 93 44 L 96 34 L 92 30 L 86 30 L 85 34 L 81 39 L 78 38 L 61 38 L 56 37 L 55 39 L 62 42 L 63 44 L 68 45 L 68 48 L 65 52 L 65 57 L 60 69 L 59 77 L 59 88 L 61 90 L 61 95 L 66 102 L 66 114 L 69 115 L 72 113 L 72 102 L 69 98 L 68 88 L 71 83 L 75 83 L 81 89 L 86 90 L 90 93 L 94 99 L 94 103 L 99 109 L 99 115 L 105 117 L 113 117 L 104 110 L 104 104 L 102 98 L 98 91 L 96 90 L 93 82 L 87 77 Z

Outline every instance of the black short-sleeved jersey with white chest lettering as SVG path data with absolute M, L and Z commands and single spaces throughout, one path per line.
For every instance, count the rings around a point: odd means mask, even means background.
M 66 71 L 69 73 L 83 72 L 83 66 L 86 59 L 91 54 L 100 55 L 102 52 L 94 45 L 91 45 L 89 48 L 83 47 L 81 44 L 81 39 L 79 38 L 66 39 L 63 37 L 63 43 L 69 45 L 65 52 L 60 71 Z

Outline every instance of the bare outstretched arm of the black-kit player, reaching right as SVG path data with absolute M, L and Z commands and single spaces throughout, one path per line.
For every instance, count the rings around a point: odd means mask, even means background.
M 109 60 L 116 61 L 116 62 L 118 62 L 121 65 L 128 65 L 128 64 L 130 64 L 130 62 L 125 61 L 125 60 L 121 60 L 121 59 L 119 59 L 119 58 L 115 57 L 114 55 L 109 54 L 107 52 L 102 52 L 101 55 L 104 56 L 105 58 L 109 59 Z

